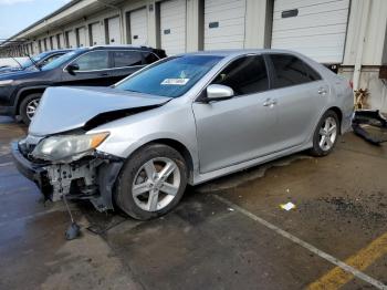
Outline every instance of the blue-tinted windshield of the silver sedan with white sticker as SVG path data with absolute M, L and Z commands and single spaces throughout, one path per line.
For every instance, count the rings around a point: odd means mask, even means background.
M 192 87 L 222 56 L 184 55 L 167 59 L 127 79 L 124 91 L 178 97 Z

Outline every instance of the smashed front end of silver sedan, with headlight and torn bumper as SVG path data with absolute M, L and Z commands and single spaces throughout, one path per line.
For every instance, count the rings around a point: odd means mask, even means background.
M 88 199 L 105 211 L 114 209 L 113 187 L 124 163 L 96 149 L 107 135 L 28 136 L 12 144 L 12 154 L 18 169 L 39 186 L 45 199 Z

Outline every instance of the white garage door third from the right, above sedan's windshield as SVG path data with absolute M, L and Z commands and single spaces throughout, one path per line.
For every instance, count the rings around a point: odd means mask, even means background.
M 168 55 L 186 52 L 186 1 L 169 0 L 160 4 L 161 49 Z

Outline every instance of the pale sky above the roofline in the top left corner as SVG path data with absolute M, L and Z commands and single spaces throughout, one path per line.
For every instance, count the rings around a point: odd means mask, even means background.
M 0 42 L 71 0 L 0 0 Z

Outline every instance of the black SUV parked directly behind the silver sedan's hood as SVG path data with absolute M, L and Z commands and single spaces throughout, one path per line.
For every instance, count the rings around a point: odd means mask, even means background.
M 49 86 L 108 86 L 165 56 L 164 50 L 146 46 L 81 48 L 36 71 L 1 74 L 0 115 L 19 115 L 29 124 Z

